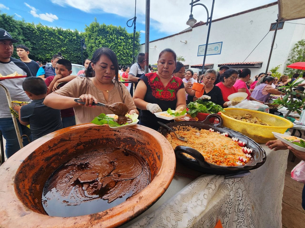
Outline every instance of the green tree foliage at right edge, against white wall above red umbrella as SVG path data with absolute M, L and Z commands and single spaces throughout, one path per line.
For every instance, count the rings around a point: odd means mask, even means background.
M 289 57 L 286 61 L 286 66 L 296 63 L 296 62 L 305 62 L 305 40 L 299 40 L 294 47 L 292 48 Z M 304 71 L 285 67 L 284 72 L 289 76 L 292 76 L 295 73 L 302 74 Z

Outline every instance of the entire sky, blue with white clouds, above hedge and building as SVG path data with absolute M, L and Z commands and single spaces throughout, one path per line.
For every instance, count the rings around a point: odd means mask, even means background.
M 178 33 L 188 26 L 191 0 L 151 0 L 150 40 Z M 211 0 L 201 0 L 211 9 Z M 213 19 L 274 2 L 274 0 L 216 0 Z M 235 4 L 236 3 L 236 4 Z M 16 19 L 43 25 L 78 29 L 84 31 L 96 17 L 107 25 L 126 27 L 133 33 L 133 27 L 126 26 L 135 13 L 134 0 L 0 0 L 0 9 Z M 202 6 L 193 8 L 197 21 L 206 21 Z M 141 32 L 141 43 L 145 42 L 145 0 L 137 1 L 136 30 Z

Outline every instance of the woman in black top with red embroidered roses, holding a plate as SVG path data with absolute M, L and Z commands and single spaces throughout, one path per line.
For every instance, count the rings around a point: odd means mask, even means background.
M 166 48 L 159 54 L 158 71 L 142 75 L 133 100 L 141 109 L 139 124 L 158 130 L 162 123 L 170 121 L 157 118 L 154 113 L 186 108 L 185 89 L 180 78 L 173 76 L 176 67 L 176 53 Z

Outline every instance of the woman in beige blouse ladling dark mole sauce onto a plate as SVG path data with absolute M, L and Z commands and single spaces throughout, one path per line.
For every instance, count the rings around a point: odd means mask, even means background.
M 105 107 L 92 106 L 92 103 L 97 104 L 97 102 L 107 105 L 122 102 L 127 105 L 129 114 L 138 113 L 127 88 L 118 81 L 117 72 L 117 56 L 109 48 L 99 48 L 92 56 L 86 78 L 74 78 L 59 90 L 46 96 L 44 104 L 53 109 L 73 107 L 77 124 L 90 123 L 101 113 L 113 114 Z M 86 104 L 76 103 L 74 99 L 77 98 Z M 88 110 L 88 107 L 92 109 Z

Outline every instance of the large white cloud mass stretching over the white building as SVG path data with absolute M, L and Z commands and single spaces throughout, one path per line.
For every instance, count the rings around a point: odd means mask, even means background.
M 130 19 L 134 16 L 135 2 L 130 0 L 51 0 L 52 3 L 66 7 L 74 7 L 89 13 L 105 12 Z M 150 26 L 160 32 L 178 33 L 188 26 L 186 21 L 191 12 L 191 0 L 154 0 L 150 2 Z M 274 2 L 274 0 L 218 0 L 215 1 L 213 19 L 228 16 L 260 5 Z M 201 1 L 211 11 L 212 1 Z M 122 8 L 122 6 L 124 6 Z M 145 24 L 145 1 L 137 1 L 137 19 Z M 207 15 L 203 6 L 194 6 L 193 15 L 197 21 L 206 22 Z

